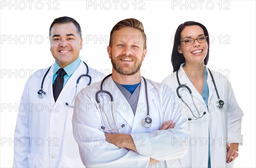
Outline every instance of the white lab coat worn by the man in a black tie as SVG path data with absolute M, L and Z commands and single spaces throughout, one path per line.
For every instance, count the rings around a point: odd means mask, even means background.
M 70 77 L 61 91 L 56 103 L 52 93 L 53 66 L 48 72 L 43 85 L 46 92 L 44 98 L 38 97 L 38 90 L 47 69 L 38 70 L 26 82 L 20 104 L 23 104 L 17 116 L 15 128 L 13 167 L 84 167 L 79 156 L 79 149 L 73 138 L 71 104 L 75 96 L 76 81 L 86 73 L 81 61 L 79 67 Z M 104 76 L 89 67 L 88 75 L 92 83 L 100 81 Z M 77 93 L 87 87 L 89 79 L 83 77 L 79 81 Z

